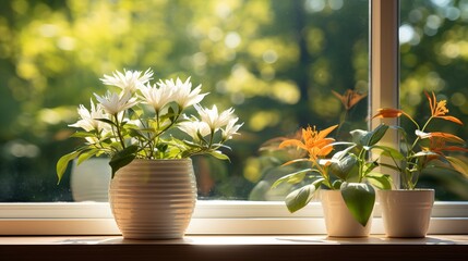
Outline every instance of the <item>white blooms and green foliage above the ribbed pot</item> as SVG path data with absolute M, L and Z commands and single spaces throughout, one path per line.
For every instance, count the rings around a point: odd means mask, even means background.
M 72 137 L 83 138 L 84 145 L 64 154 L 57 162 L 59 183 L 70 161 L 77 163 L 107 154 L 112 177 L 134 159 L 182 159 L 211 154 L 228 160 L 220 149 L 230 149 L 225 142 L 238 134 L 232 108 L 218 112 L 200 102 L 201 85 L 192 89 L 190 77 L 159 79 L 152 84 L 153 71 L 116 71 L 100 80 L 113 86 L 104 96 L 94 94 L 87 109 L 77 109 L 80 120 L 69 126 L 80 128 Z M 193 110 L 194 109 L 194 110 Z M 188 111 L 197 115 L 187 114 Z

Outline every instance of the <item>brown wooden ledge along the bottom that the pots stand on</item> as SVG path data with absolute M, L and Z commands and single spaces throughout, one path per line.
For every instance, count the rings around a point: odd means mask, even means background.
M 127 240 L 120 236 L 0 237 L 2 257 L 47 260 L 466 260 L 468 235 L 427 238 L 311 236 L 187 236 Z M 325 260 L 325 259 L 323 259 Z

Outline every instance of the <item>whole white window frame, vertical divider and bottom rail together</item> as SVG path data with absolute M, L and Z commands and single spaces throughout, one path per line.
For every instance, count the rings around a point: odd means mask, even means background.
M 398 107 L 398 0 L 371 0 L 371 99 Z M 380 124 L 373 121 L 371 127 Z M 397 142 L 385 137 L 385 142 Z M 395 176 L 397 177 L 397 176 Z M 290 214 L 283 202 L 199 201 L 188 234 L 325 234 L 319 202 Z M 383 234 L 379 203 L 371 234 Z M 430 234 L 468 234 L 468 202 L 435 202 Z M 108 203 L 0 203 L 0 235 L 118 235 Z

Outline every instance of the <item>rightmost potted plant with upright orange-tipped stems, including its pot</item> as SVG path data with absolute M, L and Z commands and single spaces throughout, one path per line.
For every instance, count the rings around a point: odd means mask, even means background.
M 400 137 L 400 146 L 393 153 L 386 153 L 394 164 L 385 164 L 399 173 L 401 189 L 379 191 L 386 235 L 389 237 L 424 237 L 434 202 L 433 189 L 417 188 L 424 169 L 448 167 L 468 176 L 468 167 L 461 160 L 446 152 L 466 152 L 465 141 L 451 133 L 430 130 L 436 120 L 463 125 L 463 122 L 448 115 L 446 100 L 436 100 L 434 92 L 424 92 L 431 115 L 421 125 L 411 115 L 399 109 L 380 109 L 374 117 L 401 117 L 409 120 L 415 128 L 391 126 Z

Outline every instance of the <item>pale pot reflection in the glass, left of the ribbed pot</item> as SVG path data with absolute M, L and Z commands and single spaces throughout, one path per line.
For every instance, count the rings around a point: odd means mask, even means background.
M 110 173 L 109 159 L 93 158 L 81 164 L 74 160 L 70 176 L 73 200 L 107 202 Z

